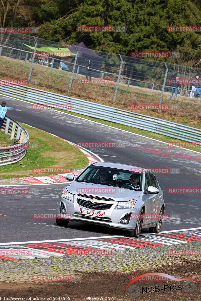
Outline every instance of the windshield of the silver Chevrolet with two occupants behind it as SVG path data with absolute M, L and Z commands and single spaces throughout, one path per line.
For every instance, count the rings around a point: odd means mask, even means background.
M 76 178 L 76 181 L 142 190 L 141 173 L 131 173 L 129 170 L 118 168 L 90 166 Z

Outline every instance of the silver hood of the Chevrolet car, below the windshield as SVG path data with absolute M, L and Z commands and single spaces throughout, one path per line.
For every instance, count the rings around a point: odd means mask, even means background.
M 119 202 L 125 202 L 133 199 L 137 199 L 142 195 L 142 191 L 134 191 L 127 188 L 107 186 L 92 183 L 83 182 L 71 182 L 66 186 L 68 192 L 77 194 L 87 194 L 93 197 L 107 197 L 115 199 Z

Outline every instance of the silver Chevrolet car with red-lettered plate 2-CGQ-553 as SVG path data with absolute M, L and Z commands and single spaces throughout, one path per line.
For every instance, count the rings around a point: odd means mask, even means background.
M 148 169 L 118 163 L 96 162 L 60 192 L 56 223 L 90 222 L 126 230 L 139 237 L 143 228 L 159 233 L 165 211 L 163 192 Z

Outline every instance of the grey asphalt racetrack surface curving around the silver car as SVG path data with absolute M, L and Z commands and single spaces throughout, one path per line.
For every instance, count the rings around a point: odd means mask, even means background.
M 200 187 L 201 154 L 166 143 L 125 132 L 100 123 L 55 110 L 32 110 L 32 104 L 0 95 L 9 107 L 7 116 L 45 130 L 71 142 L 115 142 L 115 148 L 88 148 L 104 161 L 147 168 L 169 168 L 180 173 L 156 174 L 164 192 L 165 213 L 161 231 L 201 227 L 200 194 L 170 194 L 168 188 Z M 137 132 L 137 129 L 133 128 Z M 170 138 L 171 142 L 171 138 Z M 123 147 L 122 147 L 123 146 Z M 37 166 L 36 166 L 37 167 Z M 45 166 L 44 166 L 45 167 Z M 56 225 L 55 219 L 32 219 L 33 213 L 54 213 L 58 194 L 65 184 L 26 185 L 29 195 L 1 195 L 1 243 L 59 240 L 109 235 L 126 232 L 105 226 L 70 222 L 68 228 Z M 1 188 L 2 186 L 0 186 Z M 4 186 L 7 187 L 7 186 Z M 9 186 L 11 188 L 12 186 Z M 143 229 L 142 234 L 148 231 Z

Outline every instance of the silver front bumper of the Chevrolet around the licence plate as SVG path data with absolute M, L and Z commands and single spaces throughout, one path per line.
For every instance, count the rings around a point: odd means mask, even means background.
M 77 203 L 77 197 L 76 195 L 74 196 L 74 202 L 67 200 L 63 197 L 61 197 L 61 194 L 58 198 L 58 203 L 57 203 L 57 213 L 60 213 L 60 204 L 61 202 L 65 206 L 65 210 L 67 213 L 67 216 L 71 216 L 70 219 L 71 221 L 77 221 L 77 222 L 90 222 L 92 224 L 100 224 L 100 225 L 105 225 L 107 227 L 112 227 L 112 228 L 120 228 L 124 230 L 130 230 L 133 231 L 135 229 L 137 219 L 130 219 L 128 224 L 120 224 L 119 222 L 121 219 L 127 214 L 127 213 L 136 213 L 138 214 L 139 211 L 135 208 L 117 208 L 118 202 L 107 202 L 111 203 L 112 206 L 109 209 L 94 209 L 96 211 L 101 211 L 105 212 L 104 218 L 100 217 L 90 217 L 90 216 L 84 216 L 83 214 L 80 214 L 80 208 L 83 209 L 89 209 L 88 207 L 85 207 L 83 205 L 79 205 Z M 101 202 L 100 202 L 101 203 Z M 91 209 L 93 210 L 93 209 Z M 62 219 L 62 218 L 61 218 Z M 66 220 L 66 219 L 65 219 Z

